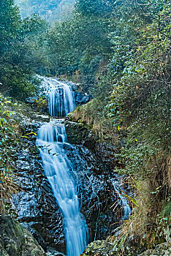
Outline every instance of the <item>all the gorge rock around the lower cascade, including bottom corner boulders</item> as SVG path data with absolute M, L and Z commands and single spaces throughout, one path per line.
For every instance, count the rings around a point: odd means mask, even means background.
M 89 98 L 75 91 L 73 85 L 71 88 L 76 105 L 88 101 Z M 62 91 L 59 94 L 63 97 Z M 46 108 L 42 108 L 43 113 L 38 113 L 35 110 L 35 99 L 26 99 L 26 103 L 30 105 L 30 111 L 20 119 L 22 143 L 18 146 L 12 162 L 19 187 L 19 192 L 13 195 L 12 200 L 12 211 L 15 212 L 16 220 L 1 217 L 0 225 L 4 228 L 0 231 L 0 255 L 62 256 L 66 255 L 64 213 L 45 175 L 45 165 L 39 154 L 41 148 L 37 146 L 37 132 L 40 127 L 48 124 L 50 120 L 56 122 L 56 118 L 48 115 Z M 71 116 L 60 120 L 67 137 L 67 143 L 62 145 L 62 150 L 72 165 L 80 214 L 83 214 L 88 227 L 89 245 L 82 255 L 115 255 L 117 252 L 114 238 L 120 233 L 118 227 L 123 220 L 129 218 L 131 212 L 123 192 L 132 195 L 124 181 L 126 176 L 113 172 L 118 165 L 115 155 L 119 145 L 113 146 L 99 141 L 98 136 L 88 126 L 73 121 Z M 9 229 L 12 231 L 9 232 Z M 136 241 L 136 238 L 129 240 L 124 255 L 137 255 L 137 243 L 140 241 Z M 156 251 L 154 249 L 156 255 L 168 255 L 168 244 L 163 246 L 165 249 L 162 254 L 162 246 Z M 152 251 L 147 251 L 142 255 L 151 253 Z

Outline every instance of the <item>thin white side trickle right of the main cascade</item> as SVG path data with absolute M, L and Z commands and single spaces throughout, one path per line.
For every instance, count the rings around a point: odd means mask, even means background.
M 126 200 L 126 197 L 124 196 L 123 189 L 121 189 L 119 179 L 115 179 L 115 181 L 113 181 L 113 187 L 115 189 L 115 192 L 118 194 L 118 197 L 121 200 L 122 220 L 129 219 L 129 214 L 131 213 L 131 208 Z

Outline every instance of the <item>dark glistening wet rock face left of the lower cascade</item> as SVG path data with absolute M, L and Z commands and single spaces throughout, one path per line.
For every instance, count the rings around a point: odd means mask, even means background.
M 37 132 L 39 125 L 37 122 L 26 122 L 23 131 L 28 134 Z M 13 203 L 19 222 L 33 234 L 45 251 L 47 246 L 51 246 L 54 251 L 65 253 L 63 217 L 44 175 L 35 139 L 32 133 L 28 138 L 23 138 L 23 147 L 19 145 L 15 154 L 13 167 L 18 174 L 17 182 L 21 191 L 13 196 Z

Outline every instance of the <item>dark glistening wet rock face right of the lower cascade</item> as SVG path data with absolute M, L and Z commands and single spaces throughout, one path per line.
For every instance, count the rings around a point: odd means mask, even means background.
M 111 210 L 117 195 L 113 192 L 113 178 L 99 166 L 95 155 L 84 146 L 66 144 L 67 157 L 73 166 L 73 178 L 77 182 L 81 211 L 86 217 L 89 240 L 103 239 L 118 227 L 118 216 Z

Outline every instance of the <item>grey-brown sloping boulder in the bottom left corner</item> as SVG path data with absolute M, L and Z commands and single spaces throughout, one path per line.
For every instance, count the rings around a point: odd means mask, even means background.
M 34 237 L 11 217 L 0 217 L 1 256 L 45 256 Z

